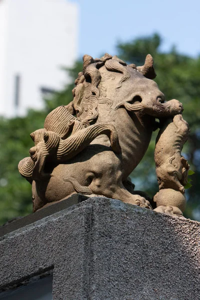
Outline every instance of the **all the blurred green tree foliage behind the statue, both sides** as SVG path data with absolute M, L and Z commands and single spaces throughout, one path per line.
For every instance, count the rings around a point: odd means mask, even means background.
M 195 174 L 191 176 L 192 187 L 187 189 L 187 209 L 185 216 L 200 220 L 200 57 L 193 58 L 180 54 L 172 47 L 164 53 L 160 50 L 161 38 L 158 34 L 134 39 L 127 43 L 118 43 L 117 55 L 126 62 L 142 65 L 147 53 L 154 58 L 155 70 L 160 90 L 166 99 L 176 98 L 183 103 L 184 119 L 190 124 L 189 140 L 183 149 L 183 155 L 188 159 Z M 43 127 L 46 114 L 61 104 L 67 104 L 72 99 L 71 89 L 78 71 L 82 68 L 77 61 L 73 68 L 64 69 L 71 78 L 71 83 L 44 99 L 42 111 L 29 110 L 25 117 L 12 119 L 0 118 L 0 223 L 18 215 L 31 212 L 31 185 L 22 178 L 17 170 L 20 159 L 28 156 L 28 149 L 33 145 L 30 132 Z M 154 132 L 149 148 L 141 163 L 131 174 L 135 189 L 146 191 L 153 196 L 157 191 L 157 180 L 153 162 L 155 143 Z

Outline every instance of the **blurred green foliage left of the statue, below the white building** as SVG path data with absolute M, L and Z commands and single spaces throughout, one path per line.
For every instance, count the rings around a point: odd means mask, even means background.
M 64 69 L 70 76 L 71 83 L 53 97 L 44 99 L 43 110 L 31 109 L 24 117 L 0 117 L 0 224 L 16 216 L 31 213 L 31 185 L 19 174 L 18 162 L 29 155 L 29 148 L 33 146 L 30 133 L 43 128 L 47 113 L 72 100 L 73 82 L 81 68 L 82 62 L 77 61 L 73 68 Z

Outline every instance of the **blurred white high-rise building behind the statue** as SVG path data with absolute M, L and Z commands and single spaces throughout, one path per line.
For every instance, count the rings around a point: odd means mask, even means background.
M 77 58 L 78 7 L 67 0 L 0 0 L 0 115 L 42 107 Z

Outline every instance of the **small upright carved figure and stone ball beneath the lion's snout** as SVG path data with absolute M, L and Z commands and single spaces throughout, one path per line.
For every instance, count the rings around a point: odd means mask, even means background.
M 187 140 L 189 127 L 181 114 L 160 121 L 160 125 L 154 153 L 159 185 L 159 192 L 154 196 L 158 206 L 155 210 L 171 214 L 174 211 L 174 214 L 181 215 L 186 205 L 184 185 L 189 169 L 181 150 Z

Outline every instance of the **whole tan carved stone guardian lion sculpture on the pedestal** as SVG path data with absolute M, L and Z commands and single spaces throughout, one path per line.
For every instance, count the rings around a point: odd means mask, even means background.
M 169 188 L 183 195 L 188 164 L 180 151 L 188 127 L 181 117 L 182 104 L 176 99 L 165 102 L 154 77 L 150 54 L 139 67 L 107 53 L 99 59 L 83 56 L 73 100 L 51 111 L 44 128 L 30 134 L 35 145 L 18 164 L 32 184 L 33 211 L 73 193 L 151 209 L 147 195 L 134 191 L 127 177 L 148 147 L 157 127 L 155 118 L 160 119 L 161 129 L 155 147 L 160 191 L 154 201 L 167 207 L 161 193 Z M 183 207 L 178 205 L 172 205 L 178 212 L 168 208 L 171 214 L 181 213 Z

